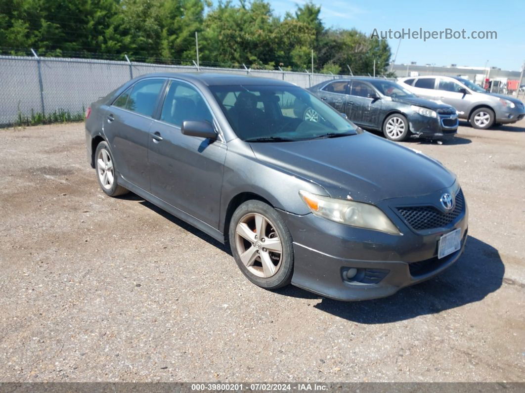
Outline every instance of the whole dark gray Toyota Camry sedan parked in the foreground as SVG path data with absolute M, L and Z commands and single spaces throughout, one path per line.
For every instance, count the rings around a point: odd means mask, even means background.
M 453 173 L 284 81 L 142 76 L 91 104 L 86 142 L 104 193 L 228 243 L 262 288 L 380 298 L 448 268 L 467 238 Z

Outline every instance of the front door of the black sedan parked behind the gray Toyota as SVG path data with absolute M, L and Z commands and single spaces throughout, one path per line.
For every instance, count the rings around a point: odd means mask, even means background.
M 352 116 L 349 119 L 367 128 L 377 128 L 382 101 L 369 98 L 369 95 L 379 96 L 370 83 L 352 81 L 346 102 L 346 105 L 352 108 Z

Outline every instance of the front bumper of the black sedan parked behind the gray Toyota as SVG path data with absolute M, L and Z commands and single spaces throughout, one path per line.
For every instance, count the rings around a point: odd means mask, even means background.
M 413 113 L 408 116 L 409 128 L 415 137 L 425 137 L 429 139 L 449 139 L 457 133 L 459 121 L 456 114 L 442 115 L 438 118 L 422 116 Z

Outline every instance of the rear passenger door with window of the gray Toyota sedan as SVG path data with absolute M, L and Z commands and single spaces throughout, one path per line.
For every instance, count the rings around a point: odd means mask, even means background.
M 138 81 L 110 105 L 104 119 L 104 134 L 120 175 L 144 190 L 150 189 L 149 130 L 165 81 Z

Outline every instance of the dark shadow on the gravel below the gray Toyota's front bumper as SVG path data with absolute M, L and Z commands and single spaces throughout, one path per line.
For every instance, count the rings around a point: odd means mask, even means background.
M 469 236 L 465 252 L 449 269 L 421 284 L 404 288 L 383 299 L 340 302 L 321 298 L 314 307 L 349 321 L 380 324 L 409 320 L 478 302 L 497 291 L 503 282 L 505 265 L 498 250 Z M 286 288 L 283 295 L 320 299 L 298 288 Z

